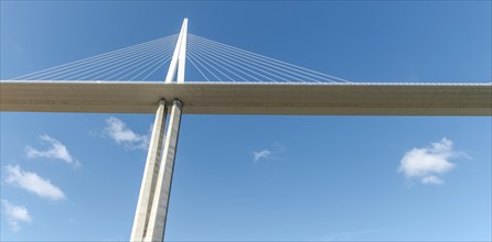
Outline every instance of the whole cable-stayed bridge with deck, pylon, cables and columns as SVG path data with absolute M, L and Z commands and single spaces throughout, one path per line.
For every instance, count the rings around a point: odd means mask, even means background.
M 0 87 L 1 111 L 156 113 L 131 241 L 163 239 L 182 113 L 492 116 L 491 82 L 352 82 L 188 34 L 188 20 Z

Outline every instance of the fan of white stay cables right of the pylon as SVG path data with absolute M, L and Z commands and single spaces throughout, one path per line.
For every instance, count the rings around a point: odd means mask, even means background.
M 186 59 L 206 81 L 224 82 L 349 82 L 193 34 Z

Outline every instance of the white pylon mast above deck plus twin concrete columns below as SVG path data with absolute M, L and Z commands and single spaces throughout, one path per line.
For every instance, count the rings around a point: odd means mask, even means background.
M 184 19 L 164 82 L 184 82 L 188 19 Z M 174 99 L 164 134 L 167 106 L 158 105 L 130 241 L 163 241 L 183 103 Z

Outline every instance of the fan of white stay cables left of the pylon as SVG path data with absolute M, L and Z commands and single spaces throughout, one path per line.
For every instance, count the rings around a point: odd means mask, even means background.
M 171 59 L 178 34 L 71 62 L 11 80 L 148 80 Z

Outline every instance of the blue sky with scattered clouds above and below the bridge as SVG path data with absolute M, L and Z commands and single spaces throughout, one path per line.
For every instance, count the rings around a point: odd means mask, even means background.
M 492 79 L 488 1 L 2 1 L 1 79 L 175 34 L 183 18 L 352 81 Z M 2 112 L 1 240 L 128 240 L 152 121 Z M 490 241 L 491 122 L 183 116 L 165 239 Z

